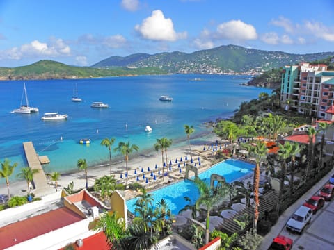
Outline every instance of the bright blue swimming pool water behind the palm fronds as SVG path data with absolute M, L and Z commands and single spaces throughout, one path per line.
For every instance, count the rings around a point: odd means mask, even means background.
M 241 160 L 229 159 L 221 163 L 213 165 L 205 172 L 198 174 L 202 181 L 209 183 L 211 174 L 219 174 L 225 177 L 228 183 L 237 180 L 250 174 L 255 165 L 250 163 L 245 163 Z M 170 184 L 164 188 L 159 188 L 150 192 L 154 199 L 153 203 L 157 203 L 161 199 L 165 199 L 173 215 L 177 215 L 179 211 L 184 208 L 188 201 L 184 200 L 184 197 L 191 198 L 191 203 L 196 201 L 199 197 L 198 190 L 193 181 L 184 180 L 177 183 Z M 136 203 L 136 198 L 127 201 L 127 209 L 134 213 L 134 204 Z M 154 205 L 153 204 L 153 205 Z

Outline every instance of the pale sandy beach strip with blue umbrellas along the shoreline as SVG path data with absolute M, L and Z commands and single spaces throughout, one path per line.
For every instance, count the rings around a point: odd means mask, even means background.
M 196 138 L 198 140 L 199 138 Z M 207 139 L 207 137 L 206 137 Z M 195 140 L 195 139 L 194 139 Z M 207 142 L 216 142 L 216 140 L 220 140 L 220 138 L 216 137 L 216 135 L 211 134 L 209 135 L 209 141 Z M 200 172 L 202 172 L 204 169 L 207 167 L 210 167 L 210 163 L 208 161 L 205 161 L 204 158 L 201 158 L 202 156 L 207 156 L 208 151 L 203 151 L 203 147 L 207 144 L 196 144 L 193 145 L 191 144 L 191 152 L 192 152 L 192 157 L 194 159 L 194 163 L 197 162 L 198 156 L 201 159 L 201 167 L 200 167 Z M 185 159 L 187 158 L 190 159 L 190 152 L 189 152 L 189 145 L 184 145 L 182 147 L 175 147 L 175 148 L 170 148 L 167 151 L 168 153 L 168 161 L 171 161 L 173 163 L 173 171 L 170 173 L 170 176 L 175 176 L 176 178 L 182 178 L 184 174 L 179 174 L 177 171 L 177 163 L 175 163 L 175 159 L 180 161 L 180 158 L 182 157 Z M 196 159 L 196 160 L 195 160 Z M 125 181 L 125 160 L 118 160 L 116 163 L 114 163 L 114 160 L 112 159 L 113 165 L 112 165 L 112 172 L 115 178 L 118 181 Z M 158 166 L 158 169 L 155 169 L 155 165 Z M 162 160 L 161 160 L 161 151 L 150 151 L 150 152 L 145 152 L 145 153 L 138 153 L 134 154 L 134 156 L 130 155 L 129 156 L 129 162 L 128 162 L 128 167 L 129 167 L 129 183 L 136 181 L 136 175 L 134 174 L 134 170 L 136 169 L 137 174 L 141 174 L 141 179 L 140 183 L 145 186 L 145 179 L 142 179 L 142 174 L 141 173 L 141 168 L 144 169 L 144 172 L 146 176 L 152 180 L 152 176 L 149 176 L 148 174 L 148 167 L 150 167 L 150 171 L 153 171 L 154 174 L 157 174 L 159 169 L 161 169 L 162 165 Z M 165 167 L 165 172 L 166 172 L 166 167 Z M 122 173 L 122 178 L 120 177 Z M 150 173 L 150 172 L 149 172 Z M 97 178 L 100 178 L 104 175 L 109 175 L 110 174 L 110 167 L 109 163 L 103 164 L 103 165 L 98 165 L 98 166 L 90 166 L 88 167 L 88 186 L 91 186 L 95 183 L 95 180 Z M 173 178 L 173 177 L 172 177 Z M 86 185 L 86 178 L 84 171 L 78 171 L 78 172 L 71 172 L 71 173 L 66 173 L 66 174 L 61 174 L 61 178 L 58 181 L 58 192 L 63 187 L 67 187 L 67 185 L 73 181 L 74 183 L 74 190 L 84 188 Z M 157 180 L 158 181 L 158 180 Z M 49 182 L 51 190 L 50 192 L 56 192 L 54 188 L 54 183 L 51 181 Z M 159 179 L 159 185 L 163 184 L 168 184 L 168 178 L 164 178 L 164 183 L 162 182 L 161 179 Z M 147 185 L 150 188 L 152 188 L 152 185 Z M 12 182 L 10 181 L 10 194 L 11 196 L 15 195 L 25 195 L 26 194 L 26 181 L 17 181 L 17 182 Z M 7 187 L 6 183 L 3 183 L 0 185 L 0 194 L 7 194 Z M 131 196 L 131 195 L 130 195 Z M 126 197 L 126 199 L 129 199 L 131 197 Z

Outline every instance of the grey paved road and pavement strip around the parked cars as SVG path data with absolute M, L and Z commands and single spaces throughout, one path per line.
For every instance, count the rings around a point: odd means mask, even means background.
M 310 225 L 306 226 L 301 235 L 287 231 L 285 228 L 285 224 L 294 211 L 299 208 L 299 206 L 303 205 L 306 199 L 317 194 L 320 188 L 333 174 L 334 170 L 324 176 L 319 183 L 313 186 L 298 201 L 285 210 L 278 219 L 276 225 L 271 228 L 271 231 L 266 235 L 264 240 L 262 240 L 262 244 L 259 247 L 260 250 L 267 250 L 273 238 L 278 234 L 285 235 L 294 240 L 292 250 L 334 249 L 334 199 L 332 199 L 332 201 L 326 201 L 324 208 L 321 208 L 316 215 L 313 215 Z

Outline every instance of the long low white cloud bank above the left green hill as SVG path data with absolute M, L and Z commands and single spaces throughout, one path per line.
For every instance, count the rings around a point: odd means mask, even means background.
M 51 38 L 49 43 L 34 40 L 21 47 L 13 47 L 6 51 L 0 51 L 1 58 L 20 60 L 27 57 L 56 57 L 70 56 L 70 47 L 62 39 Z

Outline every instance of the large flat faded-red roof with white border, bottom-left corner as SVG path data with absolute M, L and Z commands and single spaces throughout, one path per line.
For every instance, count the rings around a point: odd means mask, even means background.
M 0 228 L 0 249 L 30 240 L 83 219 L 68 208 L 58 208 Z

